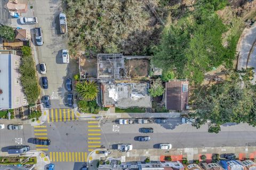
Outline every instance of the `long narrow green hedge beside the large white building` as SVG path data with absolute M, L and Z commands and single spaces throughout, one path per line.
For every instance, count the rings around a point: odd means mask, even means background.
M 28 103 L 35 104 L 41 90 L 36 76 L 35 62 L 31 56 L 31 48 L 29 46 L 23 46 L 21 50 L 23 54 L 20 64 L 21 84 Z

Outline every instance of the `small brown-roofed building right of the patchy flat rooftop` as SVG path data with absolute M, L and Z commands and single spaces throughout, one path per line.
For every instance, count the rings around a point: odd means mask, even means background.
M 167 110 L 186 110 L 188 106 L 188 81 L 170 80 L 165 83 L 165 107 Z

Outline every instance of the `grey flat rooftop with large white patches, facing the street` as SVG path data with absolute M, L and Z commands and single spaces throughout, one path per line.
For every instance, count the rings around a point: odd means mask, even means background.
M 102 83 L 101 89 L 104 107 L 151 108 L 148 83 Z

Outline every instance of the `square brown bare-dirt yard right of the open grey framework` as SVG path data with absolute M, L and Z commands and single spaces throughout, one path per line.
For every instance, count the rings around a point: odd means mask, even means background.
M 133 79 L 148 77 L 150 61 L 147 59 L 126 60 L 125 67 L 129 68 L 129 75 Z

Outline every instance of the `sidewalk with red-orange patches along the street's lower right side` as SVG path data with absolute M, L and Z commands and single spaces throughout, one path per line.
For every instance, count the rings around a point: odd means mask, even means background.
M 129 152 L 119 152 L 118 150 L 110 151 L 109 156 L 99 154 L 99 151 L 106 151 L 107 149 L 96 149 L 92 151 L 88 156 L 89 169 L 95 169 L 95 160 L 103 159 L 119 159 L 122 162 L 125 161 L 144 161 L 147 157 L 150 160 L 163 160 L 165 156 L 171 156 L 172 160 L 182 160 L 187 158 L 188 161 L 201 160 L 201 156 L 205 155 L 207 160 L 211 160 L 213 153 L 235 153 L 239 159 L 256 158 L 256 147 L 209 147 L 209 148 L 179 148 L 171 150 L 160 150 L 160 149 L 139 149 L 131 150 Z M 94 160 L 94 161 L 93 161 Z M 91 166 L 92 165 L 92 166 Z

